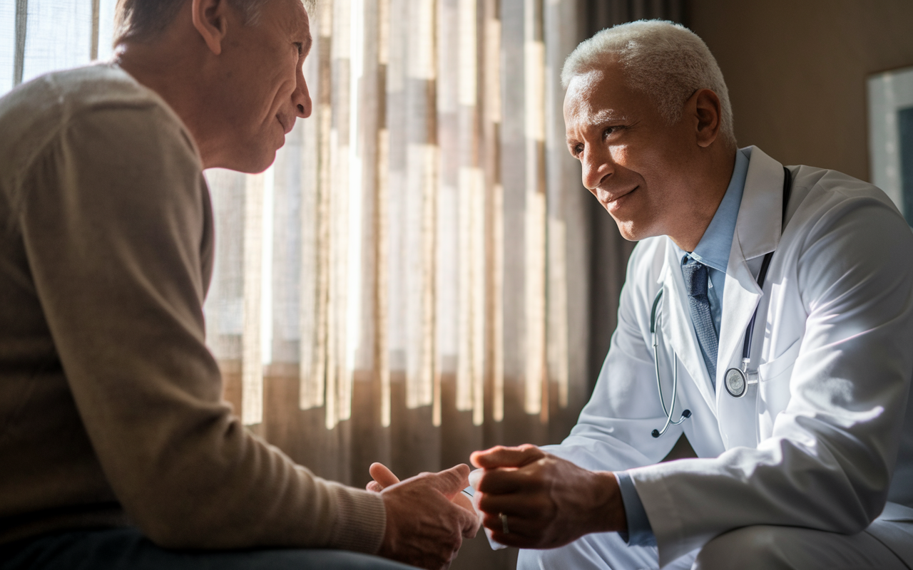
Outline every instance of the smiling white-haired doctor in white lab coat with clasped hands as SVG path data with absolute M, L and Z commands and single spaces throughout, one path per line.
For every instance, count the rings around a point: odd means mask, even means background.
M 739 149 L 682 26 L 603 30 L 561 79 L 583 184 L 639 244 L 571 435 L 473 455 L 485 526 L 551 549 L 524 569 L 913 567 L 913 233 L 895 206 Z

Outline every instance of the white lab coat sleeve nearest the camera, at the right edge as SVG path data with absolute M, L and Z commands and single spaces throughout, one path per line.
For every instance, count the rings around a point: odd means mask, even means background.
M 796 243 L 777 277 L 798 285 L 804 332 L 771 437 L 629 472 L 661 565 L 743 526 L 857 533 L 887 501 L 913 370 L 913 234 L 857 196 Z

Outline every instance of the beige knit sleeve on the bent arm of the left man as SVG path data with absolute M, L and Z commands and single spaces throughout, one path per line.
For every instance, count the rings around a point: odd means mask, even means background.
M 47 324 L 124 510 L 166 547 L 376 552 L 383 500 L 244 430 L 205 346 L 208 197 L 159 105 L 88 109 L 29 168 L 20 226 Z

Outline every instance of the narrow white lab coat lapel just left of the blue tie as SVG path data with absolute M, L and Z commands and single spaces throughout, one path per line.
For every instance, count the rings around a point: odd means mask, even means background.
M 666 238 L 668 239 L 668 238 Z M 663 337 L 668 340 L 675 350 L 678 361 L 685 368 L 688 376 L 698 385 L 701 396 L 707 402 L 709 409 L 716 414 L 717 402 L 710 384 L 710 377 L 704 358 L 701 356 L 698 337 L 695 335 L 694 326 L 691 326 L 691 316 L 687 314 L 688 302 L 685 291 L 685 280 L 679 267 L 676 248 L 671 241 L 666 246 L 666 264 L 660 274 L 663 286 L 662 320 L 660 324 Z M 671 373 L 671 371 L 670 371 Z

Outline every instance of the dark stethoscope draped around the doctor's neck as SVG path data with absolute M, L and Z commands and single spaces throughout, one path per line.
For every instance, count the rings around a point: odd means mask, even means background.
M 792 175 L 790 171 L 784 166 L 783 167 L 783 212 L 782 212 L 782 228 L 786 226 L 786 206 L 790 202 L 790 192 L 792 190 Z M 781 230 L 782 231 L 782 230 Z M 767 269 L 771 265 L 771 259 L 773 258 L 773 252 L 769 252 L 764 255 L 764 259 L 761 261 L 761 271 L 758 272 L 758 287 L 760 289 L 764 288 L 764 278 L 767 277 Z M 659 403 L 663 406 L 663 413 L 666 414 L 666 424 L 663 426 L 662 430 L 653 430 L 651 435 L 655 438 L 666 433 L 666 430 L 669 429 L 669 426 L 677 426 L 681 422 L 687 420 L 691 417 L 691 410 L 684 409 L 682 410 L 681 416 L 678 420 L 672 420 L 673 410 L 676 407 L 676 396 L 678 393 L 678 359 L 675 355 L 675 351 L 672 354 L 672 401 L 669 402 L 669 407 L 666 409 L 666 399 L 663 398 L 663 383 L 660 381 L 659 376 L 659 357 L 658 357 L 658 347 L 659 347 L 659 334 L 656 332 L 658 327 L 656 326 L 660 319 L 660 313 L 657 310 L 659 307 L 659 302 L 663 298 L 663 289 L 660 288 L 659 292 L 656 293 L 656 297 L 653 299 L 653 309 L 650 311 L 650 335 L 653 337 L 653 364 L 656 368 L 656 389 L 659 391 Z M 758 304 L 761 305 L 760 303 Z M 758 307 L 754 307 L 754 314 L 751 315 L 751 320 L 748 323 L 748 327 L 745 329 L 745 343 L 742 345 L 742 363 L 741 368 L 729 368 L 726 370 L 726 374 L 723 376 L 723 386 L 726 387 L 726 391 L 729 392 L 729 396 L 733 398 L 742 398 L 748 392 L 748 387 L 758 383 L 758 371 L 749 370 L 749 365 L 751 363 L 751 337 L 754 334 L 754 323 L 758 319 Z

